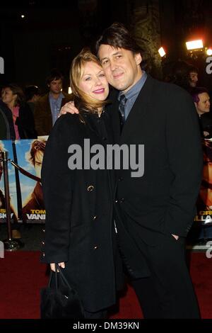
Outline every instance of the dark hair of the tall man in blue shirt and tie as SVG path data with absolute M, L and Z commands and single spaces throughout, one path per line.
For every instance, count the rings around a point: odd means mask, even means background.
M 120 47 L 134 53 L 141 53 L 141 47 L 137 45 L 129 30 L 122 23 L 112 23 L 106 28 L 95 44 L 95 51 L 98 54 L 100 45 L 110 45 L 114 48 Z

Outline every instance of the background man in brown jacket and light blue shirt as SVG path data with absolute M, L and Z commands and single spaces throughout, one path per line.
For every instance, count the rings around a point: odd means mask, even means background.
M 62 74 L 57 69 L 47 77 L 49 92 L 38 99 L 35 104 L 35 128 L 37 135 L 49 135 L 57 120 L 61 106 L 70 101 L 70 95 L 62 90 Z

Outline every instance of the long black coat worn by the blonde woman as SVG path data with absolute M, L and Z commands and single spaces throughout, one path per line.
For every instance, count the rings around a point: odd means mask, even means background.
M 42 262 L 65 261 L 64 274 L 90 312 L 115 303 L 119 275 L 116 271 L 121 271 L 109 172 L 68 167 L 70 145 L 83 148 L 86 138 L 90 139 L 90 146 L 109 140 L 108 137 L 102 140 L 96 128 L 102 117 L 99 120 L 95 117 L 85 113 L 83 123 L 78 115 L 62 115 L 49 135 L 42 162 L 46 208 Z

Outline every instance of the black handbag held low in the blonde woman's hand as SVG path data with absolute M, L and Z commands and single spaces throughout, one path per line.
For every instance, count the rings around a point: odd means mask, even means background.
M 83 319 L 83 305 L 78 293 L 69 285 L 58 264 L 55 264 L 55 283 L 52 283 L 52 276 L 53 271 L 48 286 L 40 290 L 41 319 Z

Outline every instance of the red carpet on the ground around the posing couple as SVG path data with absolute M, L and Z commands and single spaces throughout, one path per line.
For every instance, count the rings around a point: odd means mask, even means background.
M 192 253 L 191 274 L 202 318 L 212 318 L 212 259 Z M 0 259 L 0 319 L 37 319 L 40 288 L 47 284 L 46 266 L 39 252 L 6 252 Z M 120 299 L 119 312 L 112 318 L 141 318 L 134 290 Z

